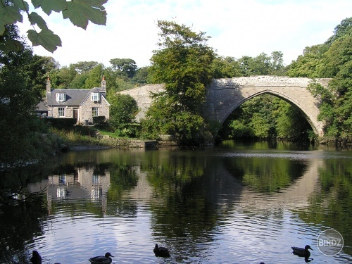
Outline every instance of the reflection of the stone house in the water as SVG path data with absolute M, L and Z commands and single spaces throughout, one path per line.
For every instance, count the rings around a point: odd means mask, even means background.
M 110 172 L 93 167 L 49 175 L 48 197 L 54 199 L 99 199 L 110 187 Z

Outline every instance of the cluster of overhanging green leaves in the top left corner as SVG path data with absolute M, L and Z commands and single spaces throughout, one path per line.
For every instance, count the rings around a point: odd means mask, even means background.
M 70 19 L 73 25 L 87 28 L 88 22 L 91 21 L 97 25 L 106 25 L 106 11 L 103 4 L 108 0 L 32 0 L 34 8 L 42 8 L 46 15 L 50 15 L 52 11 L 60 12 L 63 18 Z M 23 44 L 16 39 L 2 38 L 6 32 L 6 25 L 22 23 L 23 13 L 27 15 L 27 19 L 31 25 L 37 25 L 40 32 L 37 30 L 28 30 L 27 37 L 32 42 L 33 46 L 43 46 L 44 49 L 54 52 L 58 46 L 61 46 L 61 39 L 54 34 L 46 25 L 45 20 L 36 12 L 30 13 L 28 1 L 6 1 L 1 0 L 0 5 L 0 49 L 1 51 L 10 51 L 23 49 Z

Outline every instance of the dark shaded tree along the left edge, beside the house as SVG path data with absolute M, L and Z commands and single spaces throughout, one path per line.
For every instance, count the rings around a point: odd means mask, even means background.
M 18 37 L 18 28 L 8 25 L 6 37 Z M 0 163 L 6 174 L 8 169 L 23 165 L 44 154 L 39 132 L 42 127 L 34 113 L 37 103 L 42 99 L 37 89 L 42 83 L 38 69 L 44 67 L 45 59 L 33 56 L 25 42 L 25 49 L 9 51 L 1 56 L 0 65 Z M 33 67 L 33 68 L 32 68 Z M 30 72 L 32 70 L 32 72 Z

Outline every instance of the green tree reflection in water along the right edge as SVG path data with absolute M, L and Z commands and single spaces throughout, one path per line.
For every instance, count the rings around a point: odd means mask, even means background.
M 309 210 L 298 210 L 296 213 L 306 222 L 314 222 L 340 232 L 346 245 L 344 251 L 352 255 L 351 159 L 324 160 L 318 173 L 321 191 L 316 191 L 310 197 Z

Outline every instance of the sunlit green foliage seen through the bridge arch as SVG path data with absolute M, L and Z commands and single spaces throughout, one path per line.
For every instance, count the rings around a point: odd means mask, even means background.
M 223 139 L 303 140 L 313 131 L 298 108 L 269 94 L 244 102 L 225 121 Z

